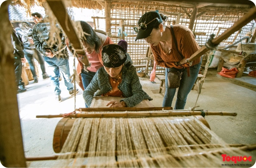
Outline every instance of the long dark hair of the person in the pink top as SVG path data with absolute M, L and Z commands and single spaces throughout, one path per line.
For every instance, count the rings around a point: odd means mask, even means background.
M 84 21 L 80 21 L 83 32 L 90 34 L 90 35 L 86 35 L 84 34 L 84 36 L 86 37 L 86 41 L 89 45 L 94 45 L 95 44 L 95 51 L 97 53 L 99 53 L 100 48 L 102 46 L 102 42 L 101 39 L 97 36 L 97 34 L 95 33 L 95 31 L 92 29 L 92 27 Z

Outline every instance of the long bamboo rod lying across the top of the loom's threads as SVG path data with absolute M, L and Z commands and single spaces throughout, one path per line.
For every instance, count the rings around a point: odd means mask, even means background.
M 167 111 L 167 112 L 122 112 L 122 113 L 76 113 L 70 114 L 67 117 L 79 118 L 79 117 L 148 117 L 148 116 L 194 116 L 201 115 L 202 112 L 192 111 Z M 236 112 L 205 112 L 206 116 L 237 116 Z M 58 118 L 63 117 L 60 115 L 42 115 L 36 116 L 36 118 Z M 65 118 L 65 117 L 64 117 Z

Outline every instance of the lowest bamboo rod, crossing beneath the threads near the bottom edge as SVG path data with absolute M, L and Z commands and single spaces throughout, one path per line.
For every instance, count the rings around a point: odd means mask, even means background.
M 252 150 L 256 150 L 256 144 L 252 144 L 252 145 L 244 145 L 244 144 L 202 144 L 202 145 L 184 145 L 184 146 L 169 146 L 169 147 L 165 147 L 165 148 L 158 148 L 158 149 L 166 149 L 166 151 L 170 151 L 172 149 L 176 149 L 177 147 L 178 148 L 184 148 L 184 147 L 190 147 L 191 149 L 196 149 L 197 147 L 208 147 L 211 148 L 211 147 L 215 147 L 215 148 L 219 148 L 219 147 L 223 147 L 223 146 L 230 146 L 230 147 L 236 147 L 238 149 L 241 149 L 243 151 L 252 151 Z M 225 149 L 225 148 L 224 148 Z M 134 153 L 137 153 L 138 151 L 141 151 L 141 150 L 145 150 L 145 149 L 140 149 L 140 150 L 132 150 L 132 152 Z M 150 152 L 149 149 L 146 149 L 147 152 Z M 151 149 L 153 150 L 153 149 Z M 214 150 L 214 151 L 209 151 L 211 153 L 215 153 L 216 151 L 219 151 L 219 150 L 222 150 L 222 149 L 218 149 L 218 150 Z M 118 153 L 120 151 L 115 151 L 115 155 L 117 156 Z M 108 153 L 108 152 L 105 152 L 105 151 L 102 151 L 102 152 L 83 152 L 84 153 L 84 156 L 83 157 L 88 157 L 89 154 L 94 154 L 94 153 Z M 207 153 L 207 152 L 203 152 L 203 153 Z M 49 155 L 49 156 L 39 156 L 39 157 L 26 157 L 26 161 L 47 161 L 47 160 L 57 160 L 57 158 L 59 156 L 65 156 L 65 155 L 70 155 L 72 153 L 61 153 L 61 154 L 56 154 L 56 155 Z M 73 153 L 73 158 L 76 157 L 78 153 Z M 81 154 L 81 153 L 79 153 Z M 200 153 L 193 153 L 193 155 L 198 155 Z M 188 154 L 187 154 L 188 155 Z M 176 156 L 177 157 L 185 157 L 187 155 L 184 155 L 184 156 Z M 175 155 L 174 155 L 175 157 Z

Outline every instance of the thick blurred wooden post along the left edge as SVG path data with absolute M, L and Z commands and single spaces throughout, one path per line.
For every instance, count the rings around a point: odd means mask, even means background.
M 0 6 L 0 162 L 6 168 L 26 168 L 23 140 L 17 102 L 17 84 L 14 73 L 12 27 L 9 21 L 8 5 Z

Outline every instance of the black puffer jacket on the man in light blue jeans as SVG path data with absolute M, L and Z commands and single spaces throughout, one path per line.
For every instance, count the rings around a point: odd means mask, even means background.
M 54 44 L 50 44 L 49 34 L 51 26 L 52 25 L 50 25 L 48 17 L 45 17 L 43 20 L 41 20 L 34 26 L 32 31 L 34 46 L 44 56 L 46 56 L 45 52 L 49 52 L 47 51 L 47 49 L 49 49 L 51 50 L 54 56 L 68 59 L 68 51 L 67 45 L 65 44 L 65 36 L 60 27 L 57 25 L 54 26 L 56 26 L 60 33 L 54 33 L 53 36 L 55 41 L 59 38 L 61 39 L 61 42 L 55 42 Z

